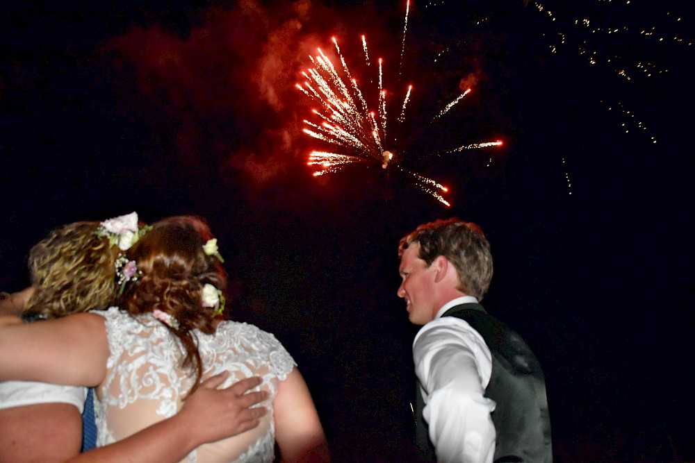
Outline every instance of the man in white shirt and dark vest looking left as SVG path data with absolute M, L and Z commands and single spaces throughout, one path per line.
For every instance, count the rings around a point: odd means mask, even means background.
M 423 325 L 413 343 L 420 456 L 440 463 L 550 463 L 538 361 L 479 303 L 493 273 L 480 227 L 459 219 L 423 224 L 401 239 L 398 251 L 398 296 L 411 323 Z

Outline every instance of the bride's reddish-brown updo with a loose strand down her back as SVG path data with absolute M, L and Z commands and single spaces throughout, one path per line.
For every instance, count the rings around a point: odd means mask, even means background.
M 206 283 L 224 291 L 227 276 L 215 255 L 203 246 L 213 235 L 198 217 L 170 217 L 156 222 L 126 258 L 138 265 L 137 279 L 126 284 L 119 306 L 130 314 L 155 312 L 186 348 L 183 367 L 196 372 L 191 392 L 202 376 L 202 362 L 195 335 L 215 331 L 215 308 L 203 304 Z M 158 312 L 156 312 L 158 311 Z M 163 314 L 161 313 L 163 312 Z

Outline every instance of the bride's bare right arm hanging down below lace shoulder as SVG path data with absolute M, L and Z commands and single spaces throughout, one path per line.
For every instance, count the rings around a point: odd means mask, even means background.
M 309 388 L 295 368 L 277 387 L 275 440 L 282 462 L 329 462 L 326 436 Z

